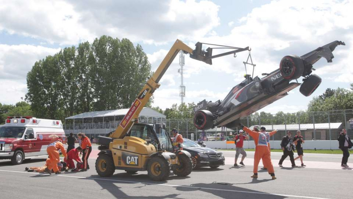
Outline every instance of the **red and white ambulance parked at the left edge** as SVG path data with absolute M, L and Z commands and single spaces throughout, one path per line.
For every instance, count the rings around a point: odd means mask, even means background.
M 7 117 L 0 127 L 0 160 L 22 164 L 24 159 L 47 157 L 47 145 L 65 139 L 60 120 Z

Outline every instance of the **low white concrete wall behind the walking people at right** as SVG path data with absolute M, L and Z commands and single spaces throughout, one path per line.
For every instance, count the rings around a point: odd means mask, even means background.
M 205 142 L 209 148 L 217 149 L 235 149 L 235 144 L 232 141 L 208 141 Z M 271 149 L 281 149 L 281 141 L 270 141 Z M 255 148 L 254 141 L 244 141 L 245 149 Z M 303 149 L 339 149 L 337 140 L 308 140 L 303 144 Z

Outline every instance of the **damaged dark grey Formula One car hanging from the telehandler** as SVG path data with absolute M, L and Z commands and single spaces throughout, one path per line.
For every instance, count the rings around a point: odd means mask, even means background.
M 303 56 L 287 55 L 282 58 L 279 69 L 271 73 L 263 73 L 263 78 L 245 75 L 243 82 L 234 86 L 223 101 L 207 102 L 203 100 L 194 108 L 194 124 L 197 129 L 207 130 L 214 126 L 226 126 L 234 129 L 240 118 L 260 110 L 288 95 L 288 91 L 300 86 L 300 93 L 311 95 L 321 83 L 321 78 L 311 74 L 313 64 L 321 57 L 327 62 L 334 58 L 332 51 L 344 42 L 334 41 L 317 48 Z M 303 76 L 303 83 L 298 78 Z M 296 80 L 291 82 L 292 80 Z

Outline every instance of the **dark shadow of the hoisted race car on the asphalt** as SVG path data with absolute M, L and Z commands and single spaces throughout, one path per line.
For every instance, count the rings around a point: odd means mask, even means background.
M 259 180 L 260 181 L 260 180 Z M 263 180 L 261 180 L 263 181 Z M 219 184 L 217 182 L 213 182 L 210 184 L 206 183 L 197 183 L 192 185 L 185 185 L 183 187 L 177 187 L 178 191 L 203 191 L 207 193 L 211 193 L 217 197 L 225 198 L 225 199 L 234 199 L 234 198 L 269 198 L 269 199 L 283 199 L 286 198 L 280 195 L 272 195 L 265 192 L 255 191 L 252 189 L 246 189 L 242 187 L 233 186 L 231 183 L 222 183 Z M 219 189 L 219 190 L 217 190 Z M 227 191 L 229 190 L 229 191 Z M 235 192 L 237 191 L 237 192 Z M 249 193 L 251 192 L 251 193 Z M 258 195 L 258 194 L 261 195 Z M 262 197 L 263 196 L 263 197 Z

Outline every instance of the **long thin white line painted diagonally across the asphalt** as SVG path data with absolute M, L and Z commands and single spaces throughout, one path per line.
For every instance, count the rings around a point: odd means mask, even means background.
M 14 172 L 14 173 L 26 173 L 26 174 L 43 175 L 43 174 L 40 174 L 40 173 L 19 172 L 19 171 L 11 171 L 11 170 L 0 170 L 0 171 L 1 172 Z M 44 174 L 44 175 L 49 175 L 49 174 Z M 229 192 L 238 192 L 238 193 L 253 193 L 253 194 L 262 194 L 262 195 L 279 195 L 279 196 L 293 197 L 293 198 L 330 199 L 330 198 L 317 198 L 317 197 L 298 196 L 298 195 L 285 195 L 285 194 L 275 194 L 275 193 L 237 191 L 237 190 L 231 190 L 231 189 L 216 189 L 216 188 L 194 187 L 194 186 L 166 185 L 166 184 L 158 184 L 158 183 L 151 183 L 151 182 L 137 182 L 137 181 L 127 181 L 127 180 L 106 179 L 106 178 L 79 177 L 79 176 L 61 175 L 61 174 L 53 175 L 53 176 L 62 176 L 62 177 L 79 178 L 79 179 L 91 179 L 91 180 L 105 180 L 105 181 L 114 181 L 114 182 L 141 183 L 141 184 L 148 184 L 148 185 L 168 186 L 168 187 L 183 187 L 183 188 L 192 188 L 192 189 L 207 189 L 207 190 L 215 190 L 215 191 L 229 191 Z

